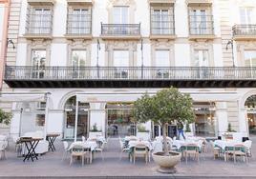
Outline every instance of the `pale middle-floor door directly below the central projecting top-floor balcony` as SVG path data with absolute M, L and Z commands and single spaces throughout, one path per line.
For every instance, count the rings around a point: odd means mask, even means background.
M 129 51 L 114 50 L 115 78 L 128 78 Z

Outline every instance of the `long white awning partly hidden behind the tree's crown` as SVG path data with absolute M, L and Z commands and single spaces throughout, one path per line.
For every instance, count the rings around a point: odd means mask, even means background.
M 236 101 L 239 99 L 237 92 L 229 91 L 192 91 L 189 93 L 196 102 L 226 102 Z M 77 93 L 76 99 L 83 103 L 106 103 L 106 102 L 133 102 L 141 97 L 141 92 L 123 92 L 123 93 Z M 149 92 L 149 95 L 154 95 L 156 92 Z

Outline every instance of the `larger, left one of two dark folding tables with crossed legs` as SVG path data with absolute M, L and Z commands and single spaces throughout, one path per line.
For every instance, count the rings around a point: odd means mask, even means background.
M 39 141 L 41 141 L 41 140 L 43 140 L 43 138 L 32 138 L 32 137 L 21 137 L 20 138 L 19 142 L 24 143 L 25 147 L 28 151 L 27 154 L 25 154 L 25 158 L 23 159 L 23 162 L 25 162 L 26 159 L 30 160 L 30 158 L 32 159 L 32 162 L 33 162 L 33 158 L 38 160 L 34 149 L 36 148 Z

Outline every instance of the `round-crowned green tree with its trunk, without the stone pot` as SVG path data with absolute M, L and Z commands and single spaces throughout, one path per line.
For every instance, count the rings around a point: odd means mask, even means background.
M 192 98 L 175 88 L 162 89 L 152 96 L 146 92 L 135 102 L 133 112 L 140 123 L 153 121 L 160 125 L 165 155 L 169 155 L 166 140 L 168 124 L 175 121 L 192 123 L 195 119 Z

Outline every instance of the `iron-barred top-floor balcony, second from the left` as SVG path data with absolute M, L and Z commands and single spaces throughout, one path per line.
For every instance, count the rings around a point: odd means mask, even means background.
M 66 38 L 92 39 L 92 15 L 68 14 Z

